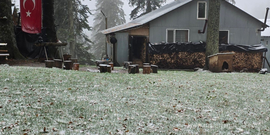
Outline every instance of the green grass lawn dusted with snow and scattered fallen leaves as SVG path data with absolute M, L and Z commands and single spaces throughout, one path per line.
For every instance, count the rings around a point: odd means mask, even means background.
M 3 135 L 270 132 L 270 75 L 0 69 Z

